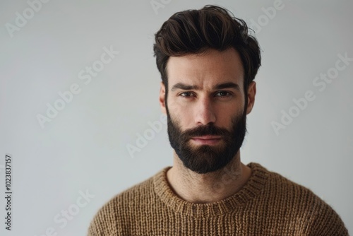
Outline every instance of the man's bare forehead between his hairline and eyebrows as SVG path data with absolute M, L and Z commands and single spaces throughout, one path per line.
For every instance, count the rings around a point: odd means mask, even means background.
M 167 77 L 169 88 L 176 83 L 185 83 L 207 89 L 227 82 L 237 83 L 242 88 L 244 69 L 234 48 L 222 52 L 209 49 L 203 54 L 169 57 Z

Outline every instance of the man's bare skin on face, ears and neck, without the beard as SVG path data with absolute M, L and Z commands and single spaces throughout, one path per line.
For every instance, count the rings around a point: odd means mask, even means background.
M 167 106 L 172 120 L 177 120 L 182 131 L 213 123 L 230 130 L 232 117 L 241 114 L 248 97 L 246 114 L 253 108 L 256 83 L 251 82 L 244 91 L 244 69 L 238 52 L 229 48 L 219 52 L 209 49 L 203 54 L 170 57 L 167 63 Z M 217 85 L 233 83 L 238 88 L 216 88 Z M 178 84 L 191 85 L 180 88 Z M 167 114 L 165 86 L 161 83 L 160 106 Z M 201 137 L 189 141 L 191 146 L 221 146 L 217 137 Z M 229 170 L 231 170 L 229 172 Z M 186 201 L 211 203 L 235 194 L 246 183 L 251 170 L 240 161 L 238 151 L 224 168 L 215 172 L 198 174 L 186 168 L 174 151 L 174 164 L 167 172 L 167 179 L 174 192 Z M 217 188 L 222 183 L 222 188 Z

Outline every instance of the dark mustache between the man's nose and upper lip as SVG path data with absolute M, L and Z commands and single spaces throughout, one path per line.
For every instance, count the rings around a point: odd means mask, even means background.
M 181 138 L 186 138 L 186 140 L 188 140 L 194 136 L 205 135 L 230 136 L 231 132 L 227 129 L 217 127 L 214 124 L 208 124 L 184 131 L 183 134 L 181 134 Z

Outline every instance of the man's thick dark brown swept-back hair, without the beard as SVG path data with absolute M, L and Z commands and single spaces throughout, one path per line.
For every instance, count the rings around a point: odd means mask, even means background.
M 244 91 L 261 66 L 261 52 L 255 37 L 249 35 L 244 20 L 235 18 L 225 8 L 207 5 L 201 10 L 174 13 L 155 33 L 157 69 L 168 90 L 167 62 L 169 57 L 201 54 L 208 49 L 224 51 L 234 47 L 244 67 Z M 167 95 L 167 94 L 166 94 Z

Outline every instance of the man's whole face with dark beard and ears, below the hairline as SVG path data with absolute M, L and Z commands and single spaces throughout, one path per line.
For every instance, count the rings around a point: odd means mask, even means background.
M 225 167 L 246 134 L 244 69 L 230 48 L 205 54 L 170 57 L 168 93 L 160 102 L 167 112 L 169 141 L 184 166 L 198 173 Z M 255 90 L 255 84 L 249 88 Z

